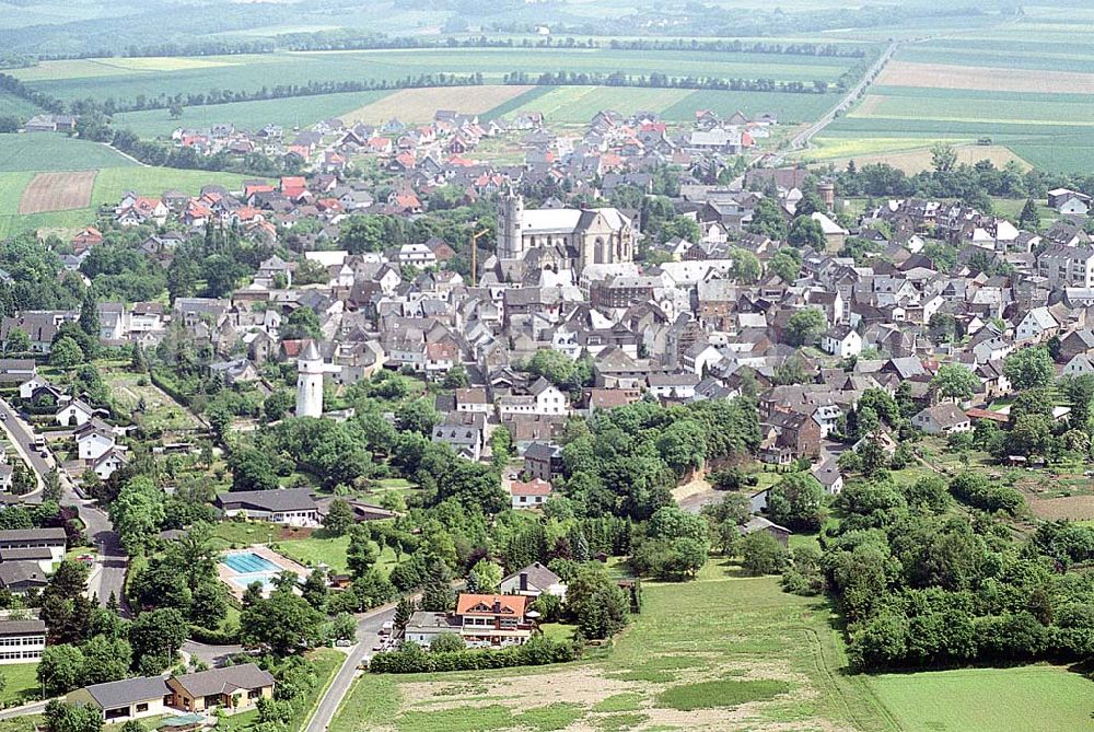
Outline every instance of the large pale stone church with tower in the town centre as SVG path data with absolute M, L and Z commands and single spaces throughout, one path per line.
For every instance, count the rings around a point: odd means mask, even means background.
M 540 269 L 573 270 L 586 265 L 635 260 L 635 225 L 615 208 L 524 208 L 524 198 L 503 195 L 498 207 L 498 258 L 538 257 Z

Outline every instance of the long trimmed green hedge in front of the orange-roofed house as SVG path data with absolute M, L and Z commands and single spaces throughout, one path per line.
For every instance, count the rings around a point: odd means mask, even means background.
M 452 651 L 432 653 L 418 643 L 407 642 L 398 651 L 377 653 L 369 662 L 374 674 L 418 674 L 437 671 L 478 671 L 510 666 L 543 666 L 566 663 L 578 658 L 573 643 L 534 636 L 523 646 L 499 650 Z

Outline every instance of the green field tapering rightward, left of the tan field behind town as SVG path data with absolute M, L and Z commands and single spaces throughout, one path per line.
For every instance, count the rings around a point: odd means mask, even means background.
M 166 109 L 123 112 L 114 117 L 118 129 L 130 129 L 140 137 L 167 137 L 179 127 L 208 129 L 230 123 L 236 129 L 259 129 L 264 125 L 280 125 L 288 130 L 307 127 L 329 117 L 339 117 L 350 109 L 372 104 L 391 92 L 347 92 L 316 94 L 283 100 L 258 100 L 186 107 L 181 119 L 172 119 Z M 386 120 L 385 120 L 386 121 Z

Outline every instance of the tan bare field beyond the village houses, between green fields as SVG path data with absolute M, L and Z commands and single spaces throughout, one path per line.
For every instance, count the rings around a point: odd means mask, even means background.
M 391 94 L 380 93 L 377 98 L 340 115 L 347 124 L 364 123 L 383 125 L 392 118 L 404 123 L 428 123 L 438 109 L 452 109 L 461 114 L 485 115 L 491 109 L 520 97 L 529 86 L 485 85 L 439 86 L 432 89 L 403 89 Z

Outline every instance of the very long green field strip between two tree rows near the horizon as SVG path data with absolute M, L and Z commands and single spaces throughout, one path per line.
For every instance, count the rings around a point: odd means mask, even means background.
M 610 48 L 453 48 L 382 49 L 363 51 L 302 51 L 266 55 L 209 56 L 199 69 L 139 70 L 113 65 L 116 59 L 45 61 L 12 74 L 35 90 L 62 100 L 89 94 L 133 100 L 138 94 L 208 93 L 210 89 L 254 91 L 263 86 L 306 84 L 310 81 L 396 81 L 428 73 L 481 73 L 499 81 L 511 72 L 544 71 L 632 75 L 665 73 L 676 77 L 773 79 L 776 81 L 835 81 L 853 59 L 800 57 L 781 54 L 728 51 L 659 51 Z M 163 65 L 170 59 L 158 59 Z M 105 61 L 105 62 L 104 62 Z

